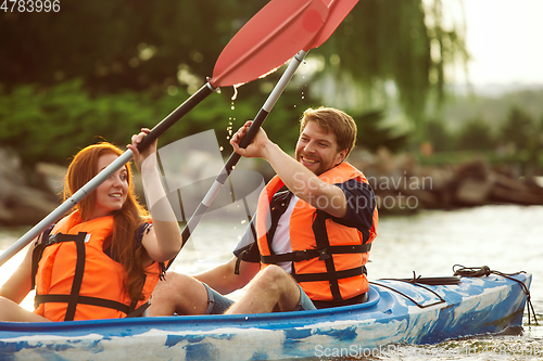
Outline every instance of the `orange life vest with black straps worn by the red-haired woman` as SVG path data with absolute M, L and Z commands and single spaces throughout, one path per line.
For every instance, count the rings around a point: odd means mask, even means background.
M 52 229 L 34 252 L 35 313 L 51 321 L 72 321 L 140 315 L 147 309 L 160 266 L 153 262 L 146 268 L 144 299 L 132 302 L 123 285 L 123 266 L 103 250 L 112 233 L 113 216 L 81 222 L 77 210 Z

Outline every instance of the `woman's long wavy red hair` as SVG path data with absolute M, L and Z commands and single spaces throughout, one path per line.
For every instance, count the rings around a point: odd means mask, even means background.
M 64 199 L 71 197 L 77 190 L 85 185 L 98 173 L 98 159 L 103 154 L 123 154 L 117 146 L 111 143 L 98 143 L 89 145 L 77 153 L 72 160 L 64 183 Z M 132 172 L 129 166 L 125 166 L 128 171 L 128 196 L 123 207 L 113 212 L 114 225 L 111 241 L 112 254 L 116 260 L 123 265 L 126 272 L 124 280 L 125 291 L 132 301 L 143 299 L 141 289 L 143 288 L 143 256 L 144 247 L 136 249 L 136 232 L 139 227 L 150 220 L 149 212 L 140 205 L 134 191 Z M 76 205 L 81 219 L 87 221 L 94 211 L 97 195 L 96 191 Z

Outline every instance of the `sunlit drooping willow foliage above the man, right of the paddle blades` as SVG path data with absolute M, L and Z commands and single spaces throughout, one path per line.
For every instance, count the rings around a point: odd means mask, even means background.
M 429 101 L 444 101 L 445 65 L 468 59 L 462 24 L 443 25 L 441 0 L 361 1 L 323 47 L 321 74 L 363 89 L 357 104 L 387 100 L 393 82 L 407 115 L 420 126 Z M 353 90 L 354 91 L 354 90 Z M 432 96 L 433 95 L 433 96 Z

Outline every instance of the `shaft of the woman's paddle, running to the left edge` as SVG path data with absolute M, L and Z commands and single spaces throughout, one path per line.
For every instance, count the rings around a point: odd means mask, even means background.
M 172 127 L 176 121 L 189 113 L 197 104 L 203 101 L 207 95 L 213 93 L 213 87 L 207 82 L 200 90 L 198 90 L 192 96 L 187 99 L 181 105 L 179 105 L 174 112 L 172 112 L 167 117 L 165 117 L 161 123 L 159 123 L 149 134 L 143 138 L 143 141 L 138 144 L 138 151 L 143 151 L 147 149 L 154 140 L 156 140 L 161 134 L 163 134 L 169 127 Z M 94 178 L 88 181 L 84 186 L 81 186 L 77 192 L 75 192 L 70 198 L 64 201 L 59 207 L 51 211 L 46 218 L 43 218 L 39 223 L 26 232 L 21 238 L 18 238 L 10 248 L 0 255 L 0 266 L 5 263 L 11 257 L 23 249 L 28 243 L 40 235 L 45 230 L 47 230 L 51 224 L 56 222 L 62 216 L 70 211 L 76 204 L 81 202 L 88 194 L 94 191 L 100 184 L 102 184 L 115 171 L 121 169 L 125 164 L 130 162 L 132 158 L 132 151 L 128 150 L 124 152 L 117 159 L 105 167 L 101 172 L 99 172 Z

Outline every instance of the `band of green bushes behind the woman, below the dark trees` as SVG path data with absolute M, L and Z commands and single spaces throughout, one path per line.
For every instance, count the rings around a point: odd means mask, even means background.
M 310 104 L 294 92 L 283 95 L 269 115 L 266 131 L 281 147 L 290 150 L 298 138 L 299 113 Z M 182 89 L 176 95 L 159 98 L 151 91 L 92 95 L 80 79 L 45 89 L 24 85 L 7 92 L 0 88 L 0 142 L 3 147 L 15 150 L 27 165 L 66 164 L 70 156 L 97 141 L 106 140 L 123 147 L 131 134 L 157 124 L 188 96 Z M 160 145 L 213 129 L 227 156 L 231 152 L 229 136 L 256 115 L 260 102 L 250 98 L 232 106 L 229 96 L 211 94 L 165 132 Z M 300 112 L 292 103 L 299 104 Z

